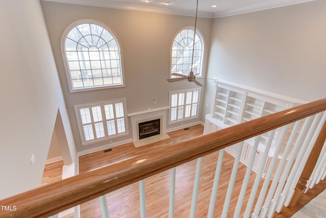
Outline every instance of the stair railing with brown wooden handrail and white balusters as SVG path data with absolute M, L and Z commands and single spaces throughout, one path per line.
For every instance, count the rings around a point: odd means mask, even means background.
M 101 196 L 101 199 L 104 199 L 103 214 L 106 214 L 107 204 L 105 197 L 103 196 L 114 190 L 139 181 L 141 199 L 143 199 L 141 201 L 141 217 L 146 217 L 144 179 L 166 171 L 167 169 L 172 169 L 173 180 L 173 176 L 175 176 L 175 173 L 173 175 L 173 172 L 175 172 L 173 169 L 176 166 L 197 159 L 196 178 L 190 214 L 191 217 L 195 217 L 198 194 L 197 182 L 199 181 L 200 176 L 201 158 L 205 155 L 211 154 L 212 152 L 220 151 L 208 210 L 208 217 L 213 217 L 214 202 L 216 200 L 216 192 L 218 191 L 219 186 L 224 149 L 233 144 L 240 143 L 240 149 L 238 149 L 235 157 L 231 180 L 229 182 L 227 196 L 225 197 L 222 211 L 222 217 L 227 217 L 228 213 L 230 214 L 231 212 L 229 211 L 229 205 L 231 198 L 230 195 L 233 191 L 234 185 L 234 179 L 232 180 L 232 178 L 236 176 L 239 157 L 242 150 L 241 145 L 244 140 L 253 137 L 255 137 L 255 144 L 252 151 L 252 158 L 249 160 L 237 205 L 233 211 L 233 216 L 238 217 L 239 214 L 241 214 L 243 217 L 272 217 L 275 211 L 279 211 L 283 205 L 288 204 L 291 200 L 294 193 L 293 184 L 295 186 L 299 180 L 319 132 L 320 134 L 324 134 L 324 132 L 322 132 L 324 131 L 322 126 L 326 119 L 326 113 L 324 113 L 325 110 L 326 99 L 318 100 L 203 135 L 189 141 L 176 143 L 173 146 L 162 147 L 114 163 L 110 166 L 102 167 L 60 182 L 26 191 L 0 201 L 0 205 L 16 206 L 15 211 L 0 211 L 0 217 L 48 217 Z M 287 145 L 284 148 L 282 143 L 280 143 L 280 145 L 276 147 L 259 194 L 258 185 L 261 181 L 264 164 L 262 164 L 257 172 L 248 202 L 244 202 L 244 192 L 248 189 L 248 178 L 251 174 L 255 154 L 259 146 L 259 138 L 263 133 L 268 131 L 273 135 L 275 129 L 283 126 L 283 131 L 286 131 L 290 125 L 292 125 L 292 132 L 289 139 L 287 139 Z M 300 132 L 298 132 L 299 129 Z M 285 133 L 281 132 L 278 137 L 284 139 Z M 271 140 L 267 142 L 267 149 L 270 146 L 270 143 L 272 143 Z M 283 157 L 279 165 L 276 167 L 278 155 L 281 150 L 283 152 Z M 268 152 L 264 152 L 262 157 L 263 162 L 266 161 L 267 155 Z M 273 180 L 270 180 L 272 174 L 274 174 L 274 177 Z M 170 201 L 171 208 L 169 217 L 174 216 L 173 181 L 171 184 L 170 200 L 172 202 Z M 255 201 L 257 196 L 258 199 Z M 246 205 L 245 210 L 243 205 Z M 244 212 L 241 212 L 243 210 Z M 108 214 L 104 215 L 104 217 L 108 217 Z

